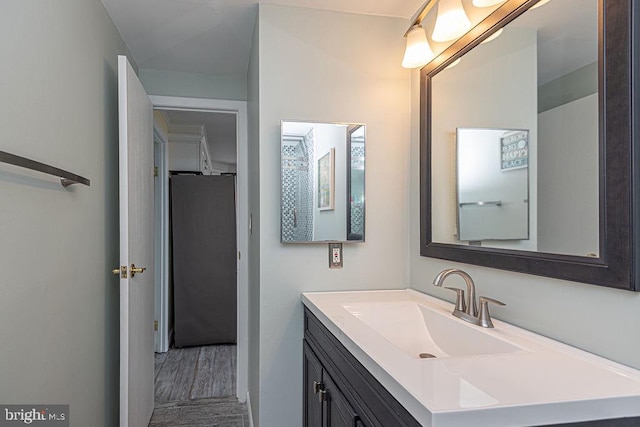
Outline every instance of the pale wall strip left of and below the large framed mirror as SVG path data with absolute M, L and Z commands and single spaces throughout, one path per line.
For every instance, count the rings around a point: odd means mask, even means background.
M 431 285 L 445 268 L 459 267 L 474 278 L 480 295 L 506 307 L 492 314 L 524 329 L 640 368 L 640 294 L 599 286 L 511 273 L 421 257 L 420 254 L 420 80 L 412 74 L 410 283 L 414 289 L 453 302 L 449 291 Z M 367 229 L 367 232 L 369 229 Z M 456 285 L 457 278 L 450 279 Z

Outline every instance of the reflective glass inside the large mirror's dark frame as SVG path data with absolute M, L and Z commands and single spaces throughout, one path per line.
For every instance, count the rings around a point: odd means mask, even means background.
M 532 8 L 459 60 L 430 76 L 433 241 L 597 257 L 597 0 Z M 527 133 L 526 167 L 497 169 L 497 134 L 490 147 L 467 144 L 508 129 Z M 491 193 L 499 185 L 490 175 L 502 176 L 500 185 L 519 182 L 518 221 L 499 220 L 506 196 Z M 494 203 L 460 206 L 485 201 Z

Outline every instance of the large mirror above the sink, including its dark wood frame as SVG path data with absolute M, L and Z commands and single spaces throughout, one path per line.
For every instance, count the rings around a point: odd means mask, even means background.
M 508 0 L 422 69 L 422 255 L 640 290 L 633 3 Z

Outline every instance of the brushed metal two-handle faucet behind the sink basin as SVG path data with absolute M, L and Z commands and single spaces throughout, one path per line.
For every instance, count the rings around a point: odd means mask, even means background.
M 480 297 L 480 312 L 478 313 L 478 305 L 476 303 L 476 286 L 473 283 L 473 279 L 469 274 L 460 270 L 459 268 L 449 268 L 443 270 L 433 279 L 435 286 L 442 286 L 444 280 L 456 274 L 464 279 L 467 284 L 467 299 L 464 297 L 464 289 L 450 288 L 445 289 L 452 290 L 456 293 L 456 306 L 453 310 L 453 315 L 465 320 L 474 325 L 482 326 L 483 328 L 493 328 L 493 322 L 491 322 L 491 315 L 489 313 L 489 303 L 497 305 L 505 305 L 502 301 L 498 301 L 489 297 Z

